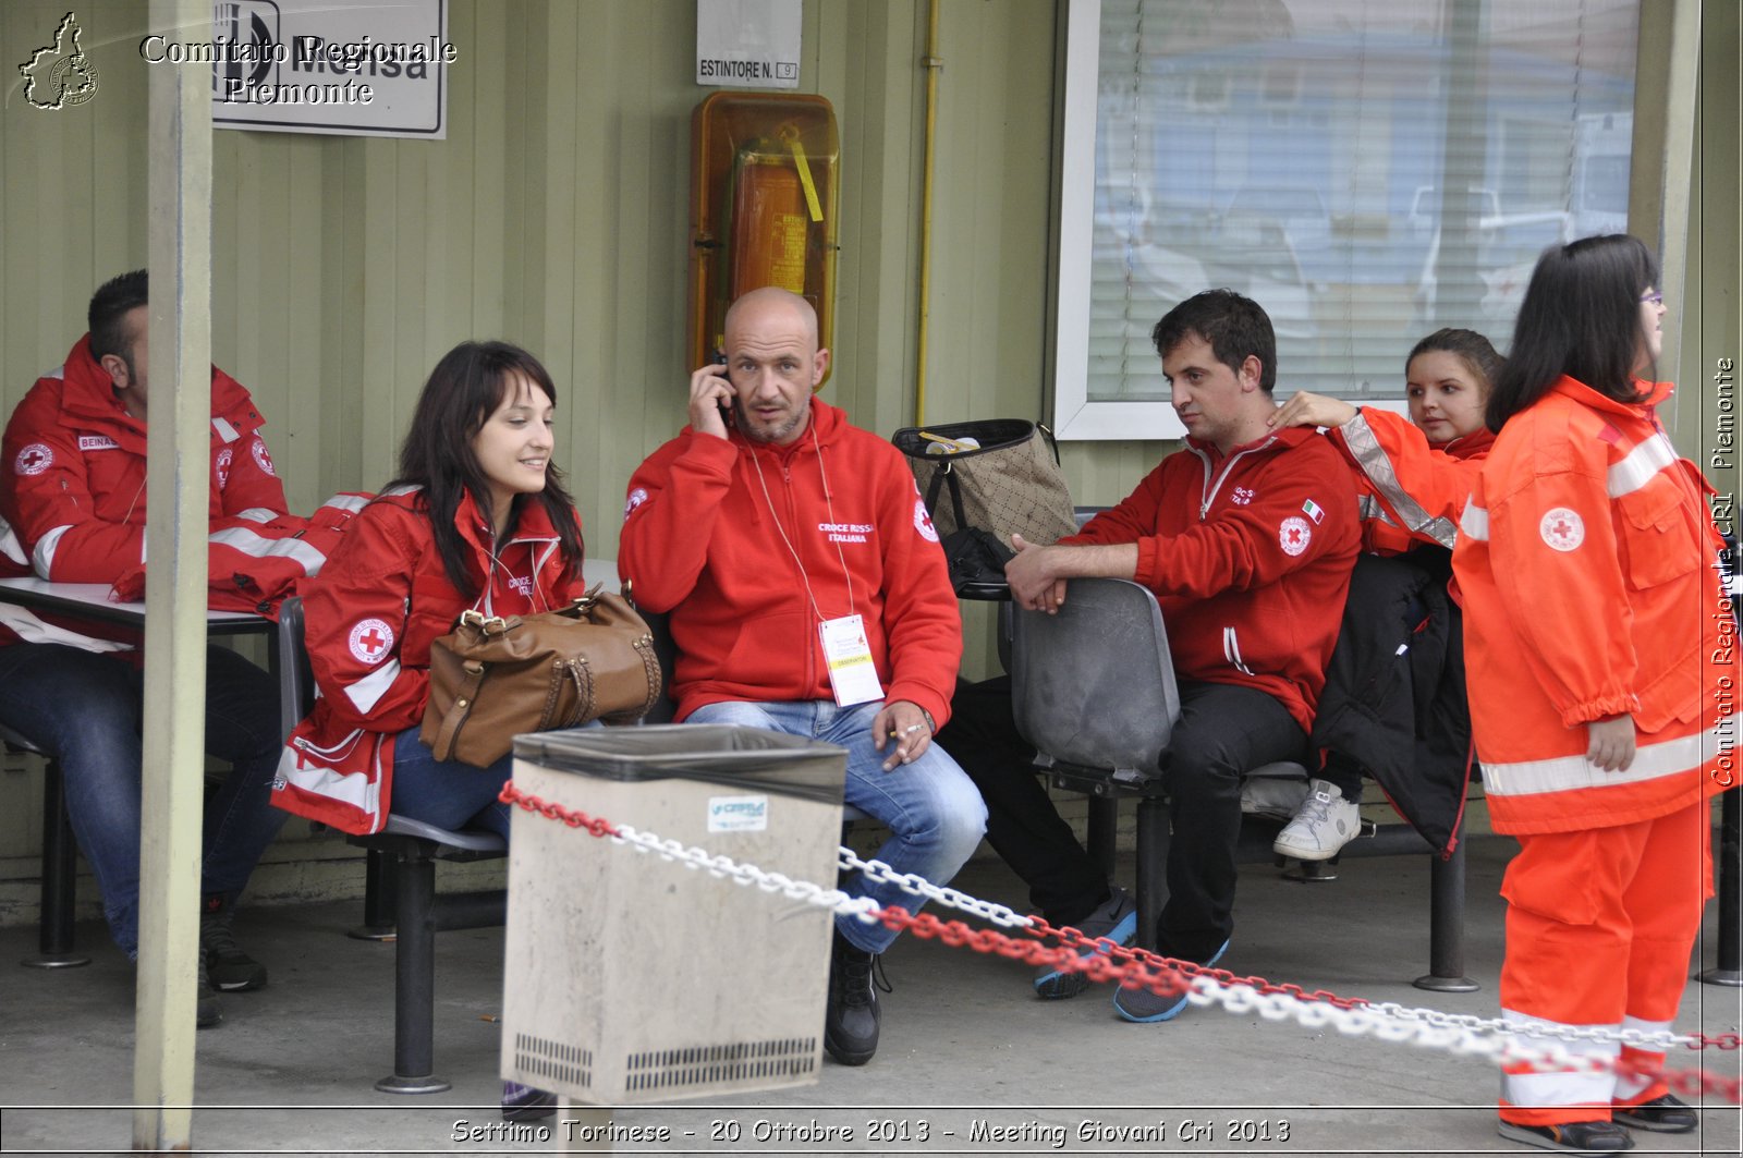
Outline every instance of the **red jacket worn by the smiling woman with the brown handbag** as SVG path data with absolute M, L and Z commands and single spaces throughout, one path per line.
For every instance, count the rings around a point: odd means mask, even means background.
M 455 525 L 481 595 L 465 598 L 443 569 L 422 494 L 397 487 L 363 507 L 319 577 L 302 588 L 303 644 L 319 694 L 284 746 L 272 800 L 342 832 L 380 832 L 387 823 L 394 738 L 424 720 L 431 642 L 448 635 L 462 610 L 526 616 L 586 593 L 580 560 L 570 569 L 542 506 L 523 502 L 519 523 L 497 546 L 467 495 Z

